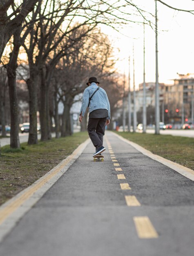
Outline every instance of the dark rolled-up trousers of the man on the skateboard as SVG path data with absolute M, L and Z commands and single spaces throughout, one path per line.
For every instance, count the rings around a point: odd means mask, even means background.
M 95 148 L 103 146 L 103 136 L 105 135 L 106 117 L 89 118 L 87 131 Z

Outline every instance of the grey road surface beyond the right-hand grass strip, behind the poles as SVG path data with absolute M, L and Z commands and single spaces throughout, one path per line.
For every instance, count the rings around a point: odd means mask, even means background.
M 154 134 L 155 130 L 147 129 L 146 132 Z M 194 130 L 160 130 L 160 134 L 194 138 Z

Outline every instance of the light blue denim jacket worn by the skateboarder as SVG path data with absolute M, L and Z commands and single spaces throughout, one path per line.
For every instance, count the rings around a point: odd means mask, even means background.
M 109 117 L 107 119 L 110 119 L 110 103 L 107 97 L 107 94 L 103 88 L 100 88 L 94 96 L 91 98 L 89 102 L 89 97 L 95 92 L 95 90 L 98 88 L 98 85 L 96 83 L 91 83 L 83 93 L 83 98 L 82 98 L 82 106 L 80 109 L 80 114 L 82 112 L 82 116 L 84 116 L 86 108 L 89 103 L 89 113 L 96 110 L 96 109 L 107 109 L 109 112 Z

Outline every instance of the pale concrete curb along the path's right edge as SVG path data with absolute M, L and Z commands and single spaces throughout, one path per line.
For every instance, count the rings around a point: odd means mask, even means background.
M 149 150 L 139 146 L 138 144 L 136 144 L 132 141 L 129 141 L 128 139 L 123 138 L 122 136 L 116 134 L 115 132 L 112 132 L 112 133 L 114 133 L 114 135 L 116 135 L 119 139 L 125 141 L 126 143 L 128 143 L 129 145 L 134 147 L 136 150 L 141 152 L 143 155 L 146 155 L 146 156 L 156 160 L 157 162 L 160 162 L 161 164 L 164 164 L 164 165 L 168 166 L 169 168 L 171 168 L 174 171 L 180 173 L 181 175 L 185 176 L 186 178 L 194 181 L 194 171 L 191 170 L 190 168 L 182 166 L 181 164 L 176 164 L 176 163 L 174 163 L 170 160 L 167 160 L 163 157 L 160 157 L 159 155 L 154 155 L 152 152 L 150 152 Z

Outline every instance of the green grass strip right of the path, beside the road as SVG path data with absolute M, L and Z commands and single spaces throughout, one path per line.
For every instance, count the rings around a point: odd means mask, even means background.
M 116 133 L 156 155 L 194 170 L 194 138 L 147 133 Z

